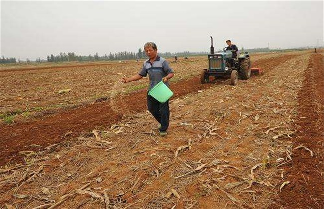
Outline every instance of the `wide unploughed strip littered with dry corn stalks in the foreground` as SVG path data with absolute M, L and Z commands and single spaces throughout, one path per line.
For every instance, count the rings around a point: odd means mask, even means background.
M 27 157 L 35 159 L 30 166 L 4 173 L 1 180 L 8 179 L 1 181 L 6 188 L 1 202 L 7 198 L 12 200 L 10 203 L 15 200 L 17 206 L 36 207 L 38 202 L 27 203 L 26 198 L 48 204 L 46 198 L 57 203 L 63 195 L 71 194 L 62 207 L 269 206 L 286 180 L 285 171 L 283 179 L 278 177 L 281 170 L 275 160 L 285 157 L 286 150 L 292 151 L 295 159 L 297 152 L 293 151 L 297 145 L 290 142 L 292 139 L 284 138 L 294 132 L 298 107 L 294 96 L 301 88 L 300 78 L 306 69 L 303 62 L 307 63 L 309 56 L 260 60 L 257 64 L 264 68 L 265 75 L 242 81 L 236 87 L 229 86 L 228 81 L 217 81 L 203 90 L 201 85 L 193 85 L 198 83 L 196 78 L 173 84 L 177 97 L 171 102 L 171 135 L 163 139 L 155 135 L 150 115 L 142 112 L 145 97 L 139 99 L 139 95 L 145 95 L 145 91 L 139 91 L 127 100 L 138 100 L 142 106 L 128 103 L 125 109 L 133 109 L 132 114 L 106 123 L 118 122 L 115 126 L 102 127 L 97 134 L 71 137 L 67 144 Z M 296 66 L 299 71 L 290 74 L 288 80 L 279 73 L 292 72 Z M 118 104 L 125 104 L 125 98 Z M 98 109 L 96 105 L 88 108 Z M 102 113 L 94 114 L 98 117 Z M 81 123 L 80 127 L 77 133 L 95 126 Z M 52 149 L 56 152 L 50 152 Z M 32 171 L 40 175 L 27 182 L 29 189 L 20 186 L 33 176 Z M 85 183 L 91 184 L 82 188 Z M 284 186 L 282 192 L 286 193 L 290 185 Z M 15 192 L 28 196 L 14 198 L 10 186 L 20 186 Z M 37 193 L 42 187 L 49 188 L 51 194 L 46 194 L 46 189 Z

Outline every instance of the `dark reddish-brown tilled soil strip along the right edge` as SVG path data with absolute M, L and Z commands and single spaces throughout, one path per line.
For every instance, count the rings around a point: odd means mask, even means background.
M 323 203 L 324 172 L 324 89 L 323 55 L 314 54 L 305 71 L 303 87 L 298 93 L 297 135 L 294 144 L 313 150 L 292 155 L 293 162 L 283 168 L 290 184 L 280 194 L 282 206 L 291 209 L 320 209 Z

